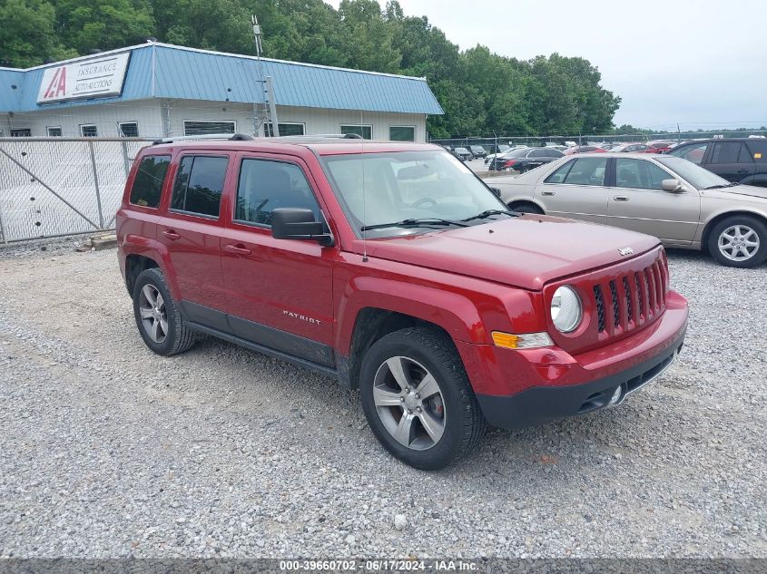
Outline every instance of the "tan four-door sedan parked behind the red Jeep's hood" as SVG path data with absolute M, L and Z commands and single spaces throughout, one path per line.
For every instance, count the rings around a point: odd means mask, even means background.
M 681 158 L 578 154 L 488 183 L 516 211 L 642 231 L 670 247 L 703 248 L 731 267 L 767 258 L 767 189 L 730 183 Z

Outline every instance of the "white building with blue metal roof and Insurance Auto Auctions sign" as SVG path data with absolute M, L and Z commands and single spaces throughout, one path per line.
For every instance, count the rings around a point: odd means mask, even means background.
M 27 70 L 0 68 L 0 137 L 359 133 L 426 141 L 441 114 L 424 78 L 141 44 Z

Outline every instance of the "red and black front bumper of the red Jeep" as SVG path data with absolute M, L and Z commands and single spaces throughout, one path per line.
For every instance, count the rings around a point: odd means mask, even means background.
M 673 291 L 668 301 L 653 326 L 582 355 L 558 347 L 511 351 L 492 345 L 475 345 L 471 354 L 458 345 L 487 422 L 521 428 L 623 402 L 663 374 L 682 349 L 687 303 Z

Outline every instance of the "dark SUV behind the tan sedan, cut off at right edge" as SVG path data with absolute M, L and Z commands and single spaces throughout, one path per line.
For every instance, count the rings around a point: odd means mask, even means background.
M 688 141 L 667 152 L 697 163 L 733 183 L 767 188 L 767 140 L 721 138 Z

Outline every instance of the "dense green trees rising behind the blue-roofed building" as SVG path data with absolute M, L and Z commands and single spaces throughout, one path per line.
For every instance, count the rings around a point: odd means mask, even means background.
M 433 137 L 602 133 L 620 98 L 583 58 L 517 60 L 482 45 L 460 51 L 396 0 L 0 0 L 0 65 L 28 67 L 160 42 L 253 54 L 258 16 L 270 58 L 426 77 L 445 110 Z

